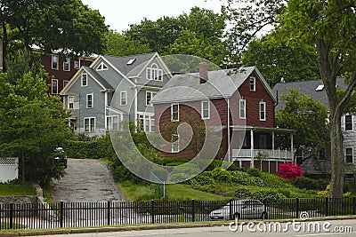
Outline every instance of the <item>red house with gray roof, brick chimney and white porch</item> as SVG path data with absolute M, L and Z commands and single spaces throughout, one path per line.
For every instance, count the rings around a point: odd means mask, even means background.
M 200 64 L 199 73 L 174 75 L 151 103 L 157 132 L 162 132 L 167 122 L 187 122 L 184 120 L 193 115 L 198 118 L 195 126 L 203 122 L 206 128 L 220 132 L 215 159 L 268 172 L 276 172 L 280 162 L 293 161 L 294 130 L 274 127 L 277 99 L 256 67 L 207 71 L 206 64 Z M 197 155 L 189 146 L 180 147 L 178 131 L 172 134 L 170 146 L 171 152 L 162 154 Z

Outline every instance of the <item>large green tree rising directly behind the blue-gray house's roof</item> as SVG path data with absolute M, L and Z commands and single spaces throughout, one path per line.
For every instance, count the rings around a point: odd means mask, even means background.
M 142 20 L 125 31 L 134 41 L 148 43 L 152 51 L 166 54 L 190 54 L 222 65 L 228 55 L 223 41 L 223 14 L 193 7 L 190 14 L 177 18 L 163 17 L 156 21 Z

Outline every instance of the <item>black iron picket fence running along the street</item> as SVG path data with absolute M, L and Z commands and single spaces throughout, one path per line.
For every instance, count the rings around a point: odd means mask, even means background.
M 0 204 L 0 230 L 356 215 L 356 198 Z

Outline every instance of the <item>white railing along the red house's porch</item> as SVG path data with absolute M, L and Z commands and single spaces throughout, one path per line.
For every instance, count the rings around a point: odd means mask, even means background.
M 232 158 L 251 159 L 251 149 L 232 149 Z M 263 160 L 282 160 L 293 161 L 293 154 L 287 150 L 267 150 L 254 149 L 254 160 L 262 158 Z

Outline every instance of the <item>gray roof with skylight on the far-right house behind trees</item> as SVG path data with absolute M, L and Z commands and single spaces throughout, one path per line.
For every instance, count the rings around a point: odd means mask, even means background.
M 345 91 L 347 84 L 344 83 L 344 78 L 336 79 L 336 86 L 341 90 Z M 290 88 L 298 89 L 307 96 L 311 97 L 314 100 L 320 101 L 326 107 L 328 107 L 328 97 L 327 92 L 324 89 L 324 83 L 321 80 L 311 80 L 304 82 L 293 82 L 293 83 L 277 83 L 273 87 L 273 93 L 277 96 L 281 94 L 290 93 Z M 285 107 L 283 101 L 279 101 L 277 108 Z

